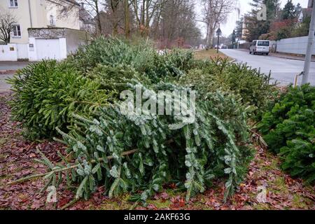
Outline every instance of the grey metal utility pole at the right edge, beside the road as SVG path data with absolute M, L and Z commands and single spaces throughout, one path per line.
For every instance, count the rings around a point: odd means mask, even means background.
M 309 25 L 309 41 L 307 42 L 307 52 L 304 62 L 304 73 L 302 78 L 302 85 L 309 83 L 309 66 L 311 65 L 311 55 L 314 47 L 315 36 L 315 0 L 309 0 L 309 8 L 313 8 L 311 12 L 311 23 Z

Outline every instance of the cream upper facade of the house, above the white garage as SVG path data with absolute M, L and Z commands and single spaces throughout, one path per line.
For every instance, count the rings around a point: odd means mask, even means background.
M 29 28 L 64 27 L 80 29 L 80 5 L 66 0 L 0 0 L 6 10 L 18 20 L 10 43 L 28 43 Z

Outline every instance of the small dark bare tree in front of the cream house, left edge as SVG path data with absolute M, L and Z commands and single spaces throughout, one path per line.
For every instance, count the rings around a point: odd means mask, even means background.
M 17 18 L 7 10 L 0 12 L 0 39 L 5 43 L 10 43 L 10 34 L 13 31 Z

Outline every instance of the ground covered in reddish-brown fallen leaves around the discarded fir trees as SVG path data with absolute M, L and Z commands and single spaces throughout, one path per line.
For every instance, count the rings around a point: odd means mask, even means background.
M 23 139 L 18 124 L 10 120 L 7 101 L 10 94 L 0 94 L 0 209 L 61 209 L 71 202 L 74 193 L 61 184 L 56 204 L 47 203 L 48 192 L 41 193 L 42 179 L 7 185 L 9 181 L 34 173 L 45 172 L 45 167 L 34 162 L 39 158 L 36 147 L 52 161 L 59 161 L 57 151 L 64 146 L 56 142 L 28 142 Z M 129 202 L 130 195 L 109 199 L 99 188 L 88 201 L 79 201 L 67 209 L 315 209 L 315 187 L 304 186 L 299 179 L 291 179 L 281 172 L 279 158 L 255 146 L 255 158 L 237 193 L 223 203 L 224 183 L 214 183 L 211 190 L 197 195 L 186 203 L 185 193 L 176 186 L 165 186 L 165 192 L 148 200 L 146 207 Z M 266 189 L 266 200 L 259 200 L 260 189 Z M 260 202 L 258 202 L 260 201 Z

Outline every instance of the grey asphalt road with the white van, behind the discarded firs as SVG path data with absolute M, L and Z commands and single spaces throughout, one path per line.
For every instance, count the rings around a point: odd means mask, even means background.
M 247 63 L 248 66 L 259 69 L 262 73 L 272 72 L 272 78 L 277 80 L 281 85 L 288 85 L 294 82 L 295 75 L 303 71 L 304 61 L 285 59 L 266 55 L 250 55 L 245 50 L 221 50 L 225 55 L 235 58 L 237 62 Z M 302 81 L 299 78 L 298 83 Z M 309 71 L 309 83 L 315 85 L 315 62 L 311 62 Z

